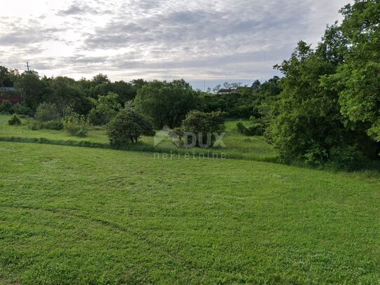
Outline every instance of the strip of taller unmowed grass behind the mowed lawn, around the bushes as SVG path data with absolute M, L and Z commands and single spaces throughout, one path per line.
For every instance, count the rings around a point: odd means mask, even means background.
M 0 115 L 0 141 L 37 142 L 44 144 L 59 144 L 70 146 L 94 146 L 108 148 L 108 138 L 106 131 L 100 127 L 90 130 L 87 137 L 73 137 L 63 130 L 30 130 L 27 127 L 28 119 L 22 119 L 22 125 L 10 126 L 8 120 L 10 116 Z M 237 158 L 246 160 L 258 160 L 274 162 L 276 154 L 274 148 L 265 142 L 262 137 L 244 137 L 237 133 L 237 121 L 228 120 L 226 123 L 226 136 L 223 139 L 225 148 L 214 148 L 204 150 L 200 148 L 178 148 L 169 141 L 164 141 L 158 146 L 154 146 L 153 137 L 143 137 L 139 144 L 125 146 L 129 151 L 149 151 L 166 153 L 207 153 L 209 151 L 218 154 L 225 154 L 227 158 Z

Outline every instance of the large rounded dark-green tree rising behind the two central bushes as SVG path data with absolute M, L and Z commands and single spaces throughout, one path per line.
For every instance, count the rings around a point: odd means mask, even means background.
M 153 119 L 157 129 L 178 127 L 186 114 L 197 109 L 199 95 L 190 85 L 180 81 L 153 81 L 138 90 L 136 109 Z

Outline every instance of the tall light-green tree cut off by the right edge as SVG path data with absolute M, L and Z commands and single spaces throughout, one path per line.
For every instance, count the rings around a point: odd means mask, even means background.
M 380 141 L 380 2 L 356 1 L 341 10 L 339 32 L 346 42 L 337 73 L 323 78 L 325 88 L 339 92 L 344 124 Z M 380 144 L 377 144 L 380 151 Z

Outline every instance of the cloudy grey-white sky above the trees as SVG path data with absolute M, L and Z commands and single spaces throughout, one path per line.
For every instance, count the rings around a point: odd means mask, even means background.
M 349 0 L 1 1 L 0 65 L 47 76 L 185 78 L 196 88 L 277 73 Z

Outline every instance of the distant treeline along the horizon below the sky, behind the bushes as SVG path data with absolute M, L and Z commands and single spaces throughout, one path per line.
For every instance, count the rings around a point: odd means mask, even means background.
M 239 87 L 232 94 L 217 94 L 193 90 L 183 80 L 111 82 L 106 75 L 99 74 L 91 80 L 76 81 L 64 76 L 40 77 L 36 71 L 18 74 L 0 67 L 0 87 L 15 87 L 23 99 L 16 106 L 5 102 L 0 111 L 34 116 L 39 105 L 51 103 L 61 116 L 70 107 L 73 112 L 88 116 L 93 125 L 105 125 L 128 103 L 136 104 L 153 118 L 157 128 L 178 127 L 191 110 L 223 111 L 230 118 L 262 116 L 262 102 L 279 95 L 279 83 L 280 78 L 274 77 L 263 84 L 255 81 L 251 87 Z

